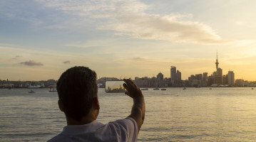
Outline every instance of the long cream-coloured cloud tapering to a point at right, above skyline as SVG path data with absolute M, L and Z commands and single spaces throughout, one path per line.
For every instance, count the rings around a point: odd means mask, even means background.
M 116 31 L 118 35 L 141 39 L 203 44 L 228 42 L 222 40 L 210 26 L 196 21 L 179 21 L 175 15 L 127 15 L 118 18 L 118 21 L 101 28 Z

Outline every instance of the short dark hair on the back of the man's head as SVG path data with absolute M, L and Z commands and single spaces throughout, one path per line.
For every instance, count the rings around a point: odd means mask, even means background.
M 81 121 L 90 111 L 97 97 L 96 72 L 88 67 L 71 67 L 57 82 L 58 99 L 64 113 Z

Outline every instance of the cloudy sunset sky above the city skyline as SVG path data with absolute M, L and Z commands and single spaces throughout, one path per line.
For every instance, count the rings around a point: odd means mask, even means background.
M 0 1 L 0 80 L 58 80 L 73 66 L 99 77 L 182 79 L 216 70 L 256 80 L 255 0 Z

